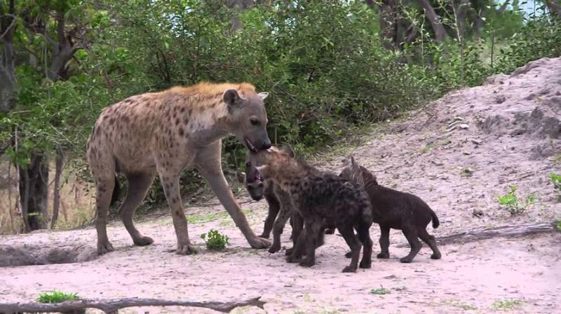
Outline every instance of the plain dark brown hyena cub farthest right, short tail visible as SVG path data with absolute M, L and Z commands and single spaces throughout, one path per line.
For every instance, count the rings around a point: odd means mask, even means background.
M 431 258 L 440 259 L 435 238 L 426 231 L 426 226 L 431 220 L 433 228 L 437 228 L 440 222 L 434 211 L 422 199 L 413 194 L 379 185 L 376 177 L 365 167 L 358 165 L 352 155 L 346 159 L 346 167 L 339 176 L 363 188 L 370 197 L 372 216 L 374 222 L 380 225 L 381 232 L 381 252 L 377 255 L 378 258 L 390 257 L 388 250 L 390 229 L 398 229 L 403 231 L 403 235 L 411 245 L 409 255 L 400 258 L 400 262 L 412 262 L 422 247 L 419 238 L 433 250 Z

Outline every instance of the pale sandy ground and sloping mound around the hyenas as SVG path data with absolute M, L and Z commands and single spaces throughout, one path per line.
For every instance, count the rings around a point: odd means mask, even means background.
M 549 222 L 561 218 L 561 203 L 548 179 L 550 172 L 561 172 L 560 118 L 561 59 L 540 59 L 373 131 L 353 154 L 381 184 L 425 199 L 440 217 L 441 226 L 429 229 L 437 238 L 479 227 Z M 454 119 L 459 123 L 450 130 Z M 324 159 L 321 166 L 338 172 L 342 157 Z M 522 199 L 537 198 L 515 217 L 496 201 L 512 184 Z M 241 201 L 259 233 L 266 204 Z M 172 252 L 176 239 L 170 217 L 138 224 L 156 241 L 142 248 L 133 246 L 115 222 L 108 233 L 116 252 L 90 262 L 0 268 L 0 308 L 2 302 L 32 301 L 39 292 L 56 289 L 88 299 L 261 296 L 266 301 L 265 310 L 233 313 L 561 313 L 561 233 L 440 245 L 440 260 L 430 259 L 425 246 L 412 264 L 400 264 L 398 257 L 409 249 L 398 246 L 405 238 L 392 231 L 391 258 L 374 259 L 372 269 L 349 274 L 341 273 L 347 248 L 337 234 L 326 237 L 318 264 L 306 269 L 286 263 L 283 251 L 271 255 L 250 249 L 217 204 L 190 207 L 187 215 L 196 217 L 189 232 L 201 245 L 198 255 Z M 198 235 L 210 228 L 231 238 L 225 252 L 203 248 Z M 288 247 L 289 231 L 283 236 Z M 379 229 L 373 227 L 371 234 L 377 238 Z M 2 236 L 0 241 L 4 248 L 71 243 L 93 249 L 95 230 Z M 388 293 L 373 293 L 381 287 Z M 146 312 L 214 313 L 179 307 L 121 311 Z

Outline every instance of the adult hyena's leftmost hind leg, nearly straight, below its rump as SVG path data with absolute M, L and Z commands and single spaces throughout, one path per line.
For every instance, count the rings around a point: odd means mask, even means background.
M 115 250 L 107 237 L 107 210 L 115 187 L 115 159 L 102 148 L 88 145 L 88 162 L 95 181 L 97 254 L 102 255 Z

